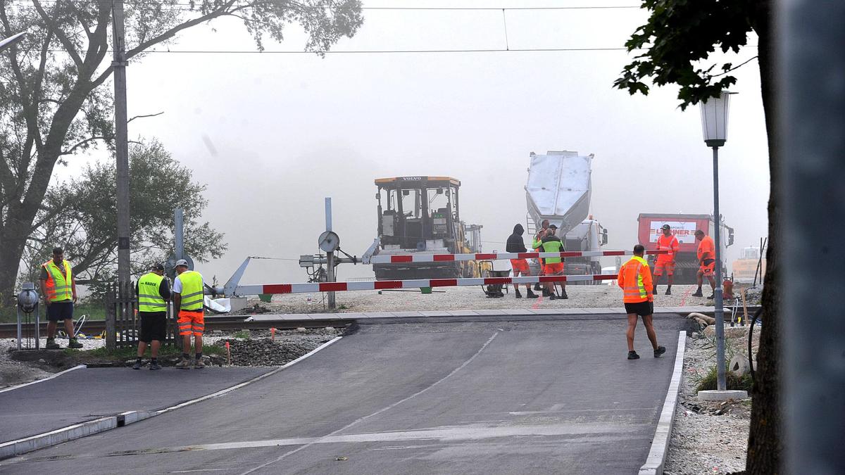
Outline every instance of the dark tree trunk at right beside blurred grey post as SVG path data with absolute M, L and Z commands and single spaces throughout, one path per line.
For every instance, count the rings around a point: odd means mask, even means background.
M 780 404 L 780 286 L 779 253 L 781 246 L 781 206 L 779 183 L 780 140 L 777 131 L 777 52 L 772 41 L 771 27 L 774 24 L 773 8 L 770 2 L 760 3 L 757 35 L 760 63 L 760 89 L 763 96 L 763 111 L 766 114 L 766 133 L 769 142 L 769 248 L 766 250 L 766 285 L 763 288 L 762 321 L 760 328 L 760 350 L 757 353 L 757 371 L 754 379 L 754 401 L 751 406 L 751 427 L 748 438 L 746 473 L 773 474 L 781 471 L 781 427 Z

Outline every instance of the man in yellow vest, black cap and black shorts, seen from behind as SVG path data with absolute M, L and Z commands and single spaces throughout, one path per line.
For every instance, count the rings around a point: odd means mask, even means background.
M 141 337 L 138 341 L 138 359 L 132 369 L 141 369 L 141 358 L 150 346 L 150 370 L 161 369 L 158 350 L 167 335 L 167 301 L 170 285 L 164 277 L 164 265 L 154 264 L 135 284 L 138 294 L 138 316 L 141 319 Z

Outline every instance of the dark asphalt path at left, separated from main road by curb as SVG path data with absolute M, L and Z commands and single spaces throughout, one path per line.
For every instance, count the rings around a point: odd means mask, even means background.
M 0 442 L 44 434 L 126 411 L 155 411 L 226 389 L 272 368 L 150 371 L 149 366 L 74 369 L 0 392 Z M 207 374 L 201 374 L 201 373 Z

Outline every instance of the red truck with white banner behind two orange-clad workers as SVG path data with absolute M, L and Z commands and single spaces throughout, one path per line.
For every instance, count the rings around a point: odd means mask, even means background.
M 637 218 L 639 223 L 637 238 L 646 250 L 657 249 L 657 238 L 662 234 L 662 226 L 668 224 L 672 228 L 675 238 L 678 238 L 679 252 L 675 255 L 674 283 L 695 284 L 699 262 L 696 251 L 698 242 L 695 241 L 695 230 L 701 229 L 707 236 L 713 236 L 714 221 L 711 215 L 682 215 L 643 213 Z M 727 276 L 728 266 L 725 261 L 728 246 L 733 244 L 733 227 L 729 227 L 722 219 L 722 273 Z M 648 256 L 653 264 L 655 257 Z

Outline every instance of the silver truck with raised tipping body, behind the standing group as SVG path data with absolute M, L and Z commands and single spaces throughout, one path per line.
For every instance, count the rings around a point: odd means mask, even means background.
M 593 155 L 582 156 L 576 151 L 548 151 L 546 155 L 532 152 L 526 183 L 526 221 L 530 240 L 537 234 L 543 220 L 558 227 L 558 237 L 567 251 L 597 251 L 608 243 L 608 230 L 593 219 L 590 213 L 592 194 Z M 564 274 L 600 274 L 598 257 L 564 259 Z M 532 274 L 540 266 L 530 263 Z M 593 282 L 590 282 L 593 283 Z

